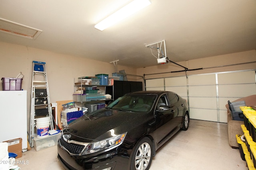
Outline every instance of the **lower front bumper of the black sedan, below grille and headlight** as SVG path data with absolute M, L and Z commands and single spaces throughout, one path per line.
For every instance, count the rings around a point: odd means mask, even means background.
M 120 170 L 127 169 L 129 166 L 129 156 L 127 152 L 118 152 L 112 149 L 102 154 L 86 157 L 72 156 L 60 147 L 58 141 L 58 159 L 67 170 Z

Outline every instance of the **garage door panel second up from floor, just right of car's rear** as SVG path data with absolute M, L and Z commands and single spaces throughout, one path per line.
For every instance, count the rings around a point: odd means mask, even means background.
M 189 97 L 189 107 L 204 108 L 204 109 L 217 109 L 216 98 L 194 98 Z

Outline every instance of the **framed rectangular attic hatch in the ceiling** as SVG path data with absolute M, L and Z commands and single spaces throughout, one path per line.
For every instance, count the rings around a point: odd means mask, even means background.
M 28 39 L 36 39 L 42 31 L 0 18 L 0 32 L 17 35 Z

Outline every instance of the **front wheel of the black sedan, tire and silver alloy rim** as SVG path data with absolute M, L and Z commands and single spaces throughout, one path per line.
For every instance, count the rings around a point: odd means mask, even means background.
M 130 170 L 148 170 L 152 162 L 153 144 L 148 137 L 142 138 L 136 145 L 131 159 Z

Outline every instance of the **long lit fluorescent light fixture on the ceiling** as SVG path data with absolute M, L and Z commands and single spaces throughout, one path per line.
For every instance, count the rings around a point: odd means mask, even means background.
M 150 4 L 150 0 L 133 0 L 120 10 L 114 12 L 104 20 L 97 23 L 94 27 L 99 29 L 100 31 L 103 31 L 107 27 L 114 25 L 115 23 L 123 20 L 124 18 L 134 14 L 135 12 L 141 10 L 142 8 L 145 8 Z

